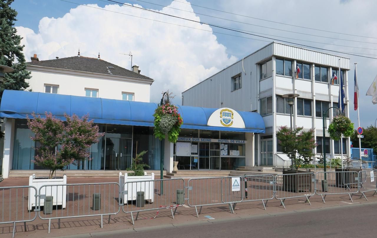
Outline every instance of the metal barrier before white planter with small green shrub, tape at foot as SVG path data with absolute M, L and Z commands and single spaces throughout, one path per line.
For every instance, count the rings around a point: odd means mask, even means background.
M 170 209 L 174 218 L 177 208 L 184 205 L 184 190 L 183 179 L 131 180 L 121 187 L 120 205 L 124 213 L 131 214 L 132 224 L 135 224 L 133 213 L 136 213 L 135 220 L 138 220 L 139 212 L 143 211 L 157 210 L 155 217 L 144 217 L 154 219 L 160 209 Z

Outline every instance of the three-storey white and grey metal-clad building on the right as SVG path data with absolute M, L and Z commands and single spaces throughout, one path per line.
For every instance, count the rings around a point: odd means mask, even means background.
M 287 66 L 290 66 L 290 76 L 285 75 L 285 71 L 284 75 L 280 75 L 279 65 L 282 62 L 281 60 L 284 59 L 287 60 Z M 267 66 L 266 71 L 264 71 L 267 77 L 263 77 L 261 76 L 262 65 L 266 65 L 264 63 L 270 60 L 271 66 Z M 294 73 L 296 64 L 305 64 L 308 67 L 305 68 L 308 74 L 306 76 L 302 74 L 301 78 L 296 79 Z M 293 126 L 303 126 L 304 130 L 313 128 L 315 139 L 319 136 L 322 138 L 322 106 L 324 108 L 326 105 L 331 107 L 334 106 L 333 103 L 338 102 L 339 86 L 336 83 L 332 85 L 331 76 L 333 70 L 338 70 L 339 66 L 341 71 L 344 72 L 345 113 L 349 117 L 347 73 L 349 59 L 278 42 L 266 45 L 182 92 L 182 105 L 206 108 L 231 107 L 240 111 L 260 113 L 265 122 L 266 133 L 256 137 L 258 146 L 255 151 L 257 158 L 255 165 L 273 165 L 275 155 L 284 159 L 287 158 L 277 151 L 276 131 L 280 126 L 290 126 L 289 111 L 284 111 L 285 105 L 284 102 L 281 105 L 279 96 L 288 93 L 299 94 L 300 96 L 294 101 Z M 319 69 L 327 75 L 321 78 L 321 74 L 317 72 Z M 301 71 L 303 73 L 302 67 Z M 239 83 L 235 84 L 233 79 L 239 75 L 241 75 L 242 82 L 240 88 Z M 318 76 L 320 77 L 319 81 Z M 337 73 L 337 77 L 339 82 L 339 73 Z M 297 100 L 300 103 L 302 102 L 302 106 L 298 106 Z M 261 104 L 265 107 L 262 106 L 261 108 Z M 304 110 L 306 110 L 305 113 Z M 333 110 L 335 109 L 329 109 L 330 118 L 326 120 L 327 125 L 333 117 L 333 113 L 335 113 Z M 320 112 L 321 116 L 316 115 L 316 111 Z M 328 133 L 326 132 L 326 139 L 327 137 Z M 346 141 L 346 154 L 349 156 L 349 138 L 345 138 L 343 141 Z M 327 156 L 331 156 L 331 158 L 340 157 L 340 149 L 338 149 L 337 143 L 339 142 L 329 139 Z M 317 147 L 315 152 L 320 155 L 322 148 Z

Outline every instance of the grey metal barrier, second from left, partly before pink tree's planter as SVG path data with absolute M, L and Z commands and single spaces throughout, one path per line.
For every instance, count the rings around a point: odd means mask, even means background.
M 50 233 L 51 220 L 101 216 L 118 214 L 120 211 L 119 183 L 75 183 L 43 185 L 38 191 L 38 217 L 49 220 L 48 233 Z M 41 207 L 43 206 L 43 210 Z M 65 209 L 64 209 L 65 208 Z

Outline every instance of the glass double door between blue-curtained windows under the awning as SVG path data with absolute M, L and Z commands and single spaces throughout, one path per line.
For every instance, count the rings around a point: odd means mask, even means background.
M 132 139 L 106 138 L 105 170 L 126 170 L 131 165 Z

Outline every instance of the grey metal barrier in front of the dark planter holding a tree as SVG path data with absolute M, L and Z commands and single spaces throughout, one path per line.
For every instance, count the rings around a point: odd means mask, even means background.
M 280 200 L 285 208 L 285 199 L 305 197 L 310 205 L 309 198 L 316 190 L 314 173 L 277 174 L 275 176 L 275 198 Z

